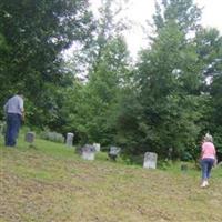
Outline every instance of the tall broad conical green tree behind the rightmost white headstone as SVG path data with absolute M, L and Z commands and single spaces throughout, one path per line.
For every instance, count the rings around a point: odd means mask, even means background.
M 134 71 L 134 104 L 139 103 L 134 114 L 139 115 L 128 114 L 134 123 L 132 128 L 122 125 L 125 137 L 132 135 L 123 145 L 127 152 L 140 154 L 149 150 L 162 157 L 173 148 L 176 158 L 194 148 L 200 132 L 201 63 L 193 39 L 188 36 L 198 28 L 200 10 L 192 1 L 183 0 L 161 1 L 157 9 L 155 36 L 141 52 Z

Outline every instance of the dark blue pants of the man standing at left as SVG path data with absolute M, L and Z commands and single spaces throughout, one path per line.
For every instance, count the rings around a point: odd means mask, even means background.
M 19 129 L 21 127 L 21 115 L 17 113 L 7 114 L 7 132 L 6 132 L 6 145 L 14 147 L 17 144 L 17 138 Z

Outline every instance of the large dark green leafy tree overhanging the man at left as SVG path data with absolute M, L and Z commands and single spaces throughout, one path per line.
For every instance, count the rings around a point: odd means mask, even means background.
M 44 89 L 54 91 L 49 83 L 67 83 L 67 73 L 61 69 L 62 50 L 73 41 L 87 41 L 91 30 L 88 1 L 2 0 L 0 33 L 8 51 L 0 54 L 0 79 L 4 82 L 0 90 L 8 95 L 23 90 L 32 104 L 47 110 L 50 93 L 44 94 Z

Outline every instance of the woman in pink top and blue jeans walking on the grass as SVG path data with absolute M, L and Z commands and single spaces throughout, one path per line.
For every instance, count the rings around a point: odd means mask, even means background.
M 213 138 L 209 133 L 205 134 L 201 148 L 201 170 L 202 170 L 202 184 L 201 188 L 209 185 L 211 169 L 216 161 L 215 147 Z

